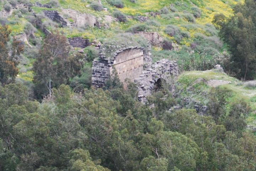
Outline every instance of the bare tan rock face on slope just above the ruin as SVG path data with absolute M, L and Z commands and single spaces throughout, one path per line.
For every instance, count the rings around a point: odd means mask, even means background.
M 137 32 L 154 46 L 162 46 L 163 38 L 157 32 Z

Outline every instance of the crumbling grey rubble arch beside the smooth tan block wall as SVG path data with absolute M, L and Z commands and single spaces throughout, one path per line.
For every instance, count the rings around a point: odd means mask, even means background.
M 151 65 L 146 71 L 142 72 L 139 78 L 134 82 L 138 86 L 138 99 L 142 103 L 146 102 L 146 97 L 151 94 L 154 85 L 158 84 L 161 79 L 167 79 L 169 76 L 178 75 L 178 66 L 176 61 L 162 59 Z

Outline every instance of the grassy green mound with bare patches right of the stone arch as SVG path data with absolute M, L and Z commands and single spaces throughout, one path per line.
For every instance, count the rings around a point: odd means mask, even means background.
M 227 88 L 231 91 L 231 98 L 228 99 L 226 108 L 228 109 L 230 103 L 244 99 L 252 108 L 252 112 L 247 118 L 248 125 L 256 127 L 256 84 L 254 81 L 241 82 L 229 77 L 224 72 L 207 70 L 184 72 L 178 77 L 177 82 L 180 84 L 180 89 L 187 90 L 183 91 L 179 98 L 190 97 L 192 101 L 205 105 L 209 100 L 205 94 L 209 92 L 211 87 Z

